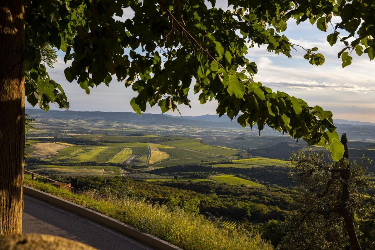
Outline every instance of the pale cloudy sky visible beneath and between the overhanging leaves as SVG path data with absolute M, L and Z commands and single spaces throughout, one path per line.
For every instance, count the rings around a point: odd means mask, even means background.
M 216 8 L 227 8 L 226 1 L 216 2 Z M 131 10 L 124 11 L 123 18 L 131 16 Z M 254 80 L 260 81 L 273 91 L 284 91 L 302 98 L 311 106 L 320 105 L 326 110 L 331 110 L 334 119 L 375 122 L 375 60 L 370 61 L 367 54 L 359 57 L 353 52 L 352 64 L 343 69 L 341 59 L 337 57 L 343 44 L 338 43 L 331 47 L 326 41 L 327 35 L 332 32 L 332 27 L 327 32 L 322 32 L 308 21 L 298 26 L 294 20 L 289 21 L 284 34 L 294 44 L 305 48 L 318 47 L 318 52 L 326 58 L 325 63 L 321 66 L 309 64 L 308 60 L 303 59 L 304 50 L 299 47 L 292 51 L 292 59 L 283 54 L 270 53 L 265 48 L 251 48 L 247 57 L 258 66 Z M 133 112 L 129 102 L 136 93 L 131 88 L 125 88 L 123 83 L 113 80 L 109 87 L 101 84 L 87 95 L 77 82 L 69 83 L 65 79 L 64 69 L 70 65 L 64 63 L 63 56 L 64 53 L 58 51 L 58 62 L 54 68 L 48 69 L 48 72 L 65 90 L 70 110 Z M 201 105 L 198 95 L 189 92 L 192 108 L 179 106 L 182 116 L 216 114 L 217 102 L 211 101 Z M 26 107 L 31 105 L 27 103 Z M 58 106 L 51 105 L 51 108 L 58 109 Z M 148 107 L 145 113 L 161 111 L 155 105 L 152 108 Z M 168 111 L 168 114 L 178 115 L 177 112 L 171 111 Z

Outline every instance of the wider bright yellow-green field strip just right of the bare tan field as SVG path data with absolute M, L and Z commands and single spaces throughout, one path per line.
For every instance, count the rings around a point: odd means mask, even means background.
M 70 148 L 70 147 L 69 147 Z M 90 161 L 101 152 L 105 151 L 106 147 L 86 147 L 77 151 L 70 152 L 59 158 L 54 158 L 54 161 L 60 161 L 64 163 L 80 163 Z

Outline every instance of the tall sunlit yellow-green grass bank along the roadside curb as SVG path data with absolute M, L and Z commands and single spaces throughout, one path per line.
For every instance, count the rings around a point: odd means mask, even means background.
M 164 205 L 152 205 L 134 197 L 96 200 L 90 194 L 72 194 L 52 185 L 27 179 L 24 184 L 98 211 L 186 250 L 272 249 L 272 245 L 261 239 L 258 233 L 220 228 L 219 224 L 207 221 L 200 215 L 171 211 Z

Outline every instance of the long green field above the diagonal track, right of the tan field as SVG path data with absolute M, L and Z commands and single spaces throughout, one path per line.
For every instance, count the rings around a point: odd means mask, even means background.
M 174 140 L 171 142 L 163 142 L 162 144 L 168 146 L 174 146 L 179 148 L 187 148 L 195 151 L 201 151 L 208 154 L 214 155 L 223 155 L 223 156 L 234 156 L 239 153 L 238 150 L 223 149 L 217 148 L 209 145 L 200 143 L 197 139 L 183 139 L 183 140 Z

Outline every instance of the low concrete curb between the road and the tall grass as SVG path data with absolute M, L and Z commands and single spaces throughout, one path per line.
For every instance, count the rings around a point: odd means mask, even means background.
M 110 227 L 125 235 L 129 235 L 139 241 L 150 245 L 151 247 L 156 247 L 160 250 L 182 250 L 182 248 L 177 247 L 171 243 L 163 241 L 149 233 L 143 233 L 136 229 L 135 227 L 129 226 L 121 221 L 115 220 L 114 218 L 108 217 L 107 215 L 101 214 L 84 206 L 75 204 L 68 200 L 61 199 L 59 197 L 53 196 L 51 194 L 42 192 L 35 188 L 28 187 L 23 185 L 24 194 L 32 196 L 34 198 L 43 200 L 51 205 L 62 208 L 66 211 L 72 212 L 73 214 L 78 214 L 83 217 L 88 218 L 89 220 L 95 221 L 96 223 L 102 224 L 103 226 Z

